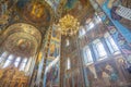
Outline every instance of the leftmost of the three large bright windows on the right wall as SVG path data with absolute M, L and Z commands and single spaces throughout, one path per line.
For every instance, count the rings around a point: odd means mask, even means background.
M 92 63 L 92 62 L 93 62 L 93 57 L 92 57 L 92 52 L 91 52 L 90 48 L 86 47 L 84 52 L 85 52 L 84 63 L 85 63 L 85 64 Z

